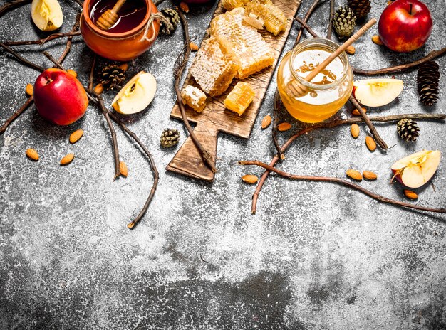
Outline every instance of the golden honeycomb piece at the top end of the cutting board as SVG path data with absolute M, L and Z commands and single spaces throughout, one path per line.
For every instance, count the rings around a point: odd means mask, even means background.
M 286 28 L 286 16 L 279 7 L 274 6 L 271 1 L 254 0 L 246 6 L 246 15 L 254 14 L 264 21 L 266 30 L 277 36 Z

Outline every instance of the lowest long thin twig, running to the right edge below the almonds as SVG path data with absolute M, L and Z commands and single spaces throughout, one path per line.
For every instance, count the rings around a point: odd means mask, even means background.
M 336 184 L 341 184 L 342 186 L 346 186 L 348 188 L 352 188 L 356 191 L 361 191 L 366 196 L 369 196 L 376 201 L 380 201 L 381 203 L 387 203 L 394 206 L 400 206 L 403 208 L 412 208 L 415 210 L 420 211 L 428 211 L 428 212 L 435 212 L 435 213 L 446 213 L 446 208 L 429 208 L 425 206 L 418 206 L 415 204 L 405 203 L 401 201 L 396 201 L 395 199 L 383 197 L 381 195 L 378 195 L 378 193 L 373 193 L 372 191 L 369 191 L 368 189 L 365 189 L 361 186 L 359 186 L 356 183 L 352 183 L 350 181 L 339 179 L 335 177 L 330 176 L 301 176 L 296 174 L 289 174 L 284 171 L 280 171 L 279 169 L 276 169 L 274 166 L 270 166 L 268 164 L 264 164 L 261 161 L 239 161 L 240 165 L 256 165 L 263 167 L 267 171 L 273 171 L 276 174 L 279 174 L 280 176 L 284 176 L 285 178 L 292 179 L 292 180 L 299 180 L 299 181 L 319 181 L 319 182 L 331 182 Z

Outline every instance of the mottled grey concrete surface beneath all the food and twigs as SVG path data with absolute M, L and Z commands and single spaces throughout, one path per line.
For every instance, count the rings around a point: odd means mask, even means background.
M 0 1 L 4 4 L 5 1 Z M 305 0 L 304 16 L 311 1 Z M 75 1 L 61 1 L 71 29 Z M 336 6 L 341 5 L 336 1 Z M 164 8 L 168 4 L 163 4 Z M 382 68 L 445 46 L 445 1 L 427 4 L 435 26 L 427 45 L 397 55 L 373 44 L 373 27 L 356 45 L 353 65 Z M 379 17 L 385 1 L 373 1 L 370 16 Z M 0 40 L 46 36 L 36 31 L 30 6 L 1 18 Z M 192 36 L 201 41 L 212 6 L 187 14 Z M 311 18 L 326 33 L 328 1 Z M 296 38 L 292 29 L 286 49 Z M 88 80 L 91 51 L 75 38 L 66 67 Z M 18 47 L 44 66 L 41 54 L 58 56 L 64 41 Z M 159 83 L 147 111 L 125 117 L 155 156 L 160 185 L 138 228 L 126 228 L 145 201 L 152 174 L 138 148 L 118 130 L 127 179 L 113 179 L 110 134 L 100 112 L 89 107 L 71 127 L 43 121 L 34 107 L 0 137 L 0 328 L 1 329 L 446 329 L 445 216 L 385 206 L 360 193 L 330 183 L 304 183 L 271 177 L 251 215 L 254 186 L 243 174 L 260 169 L 237 166 L 239 159 L 269 161 L 274 153 L 270 129 L 260 129 L 271 113 L 272 92 L 261 107 L 249 140 L 219 137 L 219 173 L 214 183 L 166 173 L 174 150 L 160 149 L 162 129 L 180 129 L 170 119 L 175 102 L 172 67 L 182 48 L 182 31 L 157 40 L 130 63 L 128 78 L 139 70 Z M 445 73 L 446 58 L 437 60 Z M 18 65 L 0 51 L 0 122 L 26 97 L 24 87 L 38 73 Z M 416 72 L 396 75 L 405 89 L 391 105 L 370 115 L 445 112 L 446 95 L 432 108 L 420 106 Z M 440 85 L 445 83 L 444 75 Z M 110 104 L 114 94 L 105 97 Z M 347 117 L 343 109 L 338 117 Z M 291 120 L 291 119 L 289 119 Z M 420 122 L 420 137 L 406 144 L 395 125 L 379 124 L 390 146 L 370 153 L 366 129 L 353 140 L 349 127 L 315 131 L 289 149 L 279 167 L 297 174 L 344 177 L 348 168 L 371 170 L 378 181 L 361 186 L 405 200 L 402 186 L 389 185 L 390 165 L 420 149 L 445 154 L 445 125 Z M 85 135 L 68 143 L 73 130 Z M 284 139 L 289 134 L 282 134 Z M 28 161 L 25 150 L 41 155 Z M 58 165 L 68 152 L 78 158 Z M 418 189 L 415 203 L 445 206 L 446 163 L 442 160 L 432 186 Z

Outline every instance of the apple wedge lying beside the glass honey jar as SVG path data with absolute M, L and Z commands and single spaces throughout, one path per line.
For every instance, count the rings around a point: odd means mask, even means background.
M 368 107 L 382 107 L 395 100 L 403 90 L 403 80 L 365 79 L 353 82 L 353 95 Z

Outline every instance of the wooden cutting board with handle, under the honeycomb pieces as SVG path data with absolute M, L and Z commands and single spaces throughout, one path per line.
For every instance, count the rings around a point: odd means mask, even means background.
M 286 26 L 286 31 L 283 31 L 279 36 L 274 36 L 268 31 L 261 31 L 264 39 L 272 46 L 274 52 L 276 53 L 276 59 L 279 58 L 282 48 L 288 37 L 291 25 L 293 23 L 294 15 L 299 8 L 301 0 L 273 0 L 276 6 L 284 11 L 284 14 L 288 18 L 288 25 Z M 225 9 L 222 4 L 219 3 L 217 9 L 215 9 L 214 16 L 224 13 Z M 213 17 L 214 17 L 213 16 Z M 209 35 L 204 36 L 204 40 L 209 38 Z M 186 107 L 187 119 L 190 122 L 197 123 L 194 129 L 199 142 L 202 143 L 204 149 L 209 151 L 213 158 L 217 158 L 217 137 L 219 132 L 225 132 L 227 134 L 232 134 L 237 137 L 244 137 L 247 139 L 249 134 L 251 134 L 252 127 L 256 121 L 257 114 L 259 113 L 259 108 L 261 102 L 264 99 L 264 95 L 268 88 L 271 77 L 274 73 L 274 68 L 276 67 L 277 60 L 274 62 L 272 67 L 266 68 L 255 75 L 249 76 L 249 78 L 243 81 L 249 82 L 256 92 L 256 97 L 254 101 L 249 105 L 247 110 L 242 116 L 239 117 L 235 112 L 226 110 L 224 108 L 224 99 L 227 94 L 232 90 L 232 87 L 239 81 L 234 79 L 232 85 L 229 86 L 223 95 L 218 97 L 208 97 L 207 105 L 203 112 L 197 113 L 194 110 Z M 185 83 L 193 86 L 197 86 L 194 82 L 192 75 L 187 74 Z M 172 109 L 170 113 L 172 118 L 182 119 L 180 107 L 177 104 Z M 204 164 L 202 157 L 199 155 L 194 142 L 190 137 L 187 137 L 182 147 L 177 151 L 177 154 L 173 157 L 172 161 L 167 165 L 168 171 L 173 171 L 176 173 L 184 174 L 186 176 L 192 176 L 197 179 L 202 179 L 206 181 L 214 180 L 214 173 L 209 169 L 209 167 Z

